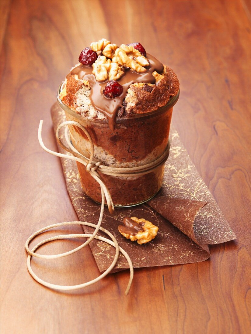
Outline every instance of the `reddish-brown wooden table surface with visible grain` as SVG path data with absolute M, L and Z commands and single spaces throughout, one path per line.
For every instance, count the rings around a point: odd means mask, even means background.
M 250 1 L 1 1 L 1 333 L 251 333 L 250 10 Z M 102 37 L 140 41 L 175 70 L 173 124 L 238 237 L 210 246 L 203 263 L 136 270 L 129 296 L 128 271 L 49 290 L 28 274 L 24 250 L 37 229 L 77 220 L 60 160 L 40 148 L 37 128 L 44 119 L 56 150 L 56 90 Z M 71 248 L 57 241 L 40 252 Z M 99 275 L 89 247 L 32 266 L 58 284 Z

